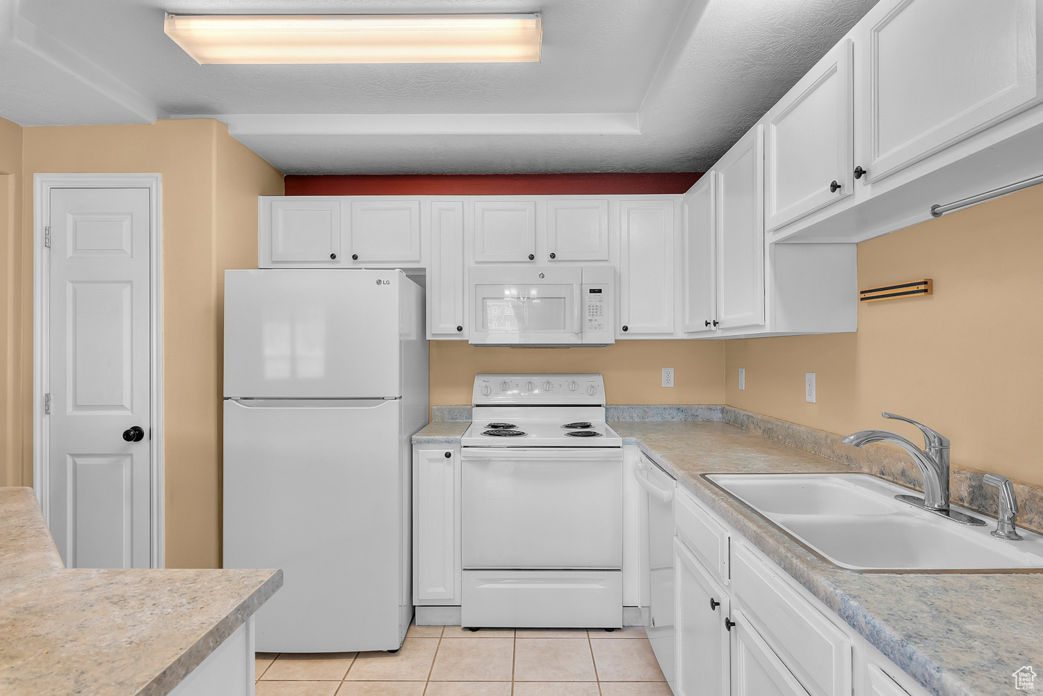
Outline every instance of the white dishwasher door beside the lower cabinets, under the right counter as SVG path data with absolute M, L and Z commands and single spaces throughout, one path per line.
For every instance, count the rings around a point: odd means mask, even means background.
M 671 690 L 674 658 L 674 479 L 645 455 L 634 469 L 648 495 L 649 625 L 646 630 Z

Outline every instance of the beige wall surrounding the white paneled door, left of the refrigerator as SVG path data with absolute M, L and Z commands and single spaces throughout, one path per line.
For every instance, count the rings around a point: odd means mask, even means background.
M 166 565 L 217 568 L 223 271 L 257 267 L 257 196 L 281 195 L 282 174 L 210 119 L 22 133 L 26 211 L 34 173 L 163 175 Z M 32 238 L 31 215 L 22 238 Z M 25 255 L 31 263 L 31 246 Z M 29 268 L 22 286 L 31 303 Z M 31 340 L 31 305 L 22 323 Z M 31 365 L 21 366 L 31 383 Z

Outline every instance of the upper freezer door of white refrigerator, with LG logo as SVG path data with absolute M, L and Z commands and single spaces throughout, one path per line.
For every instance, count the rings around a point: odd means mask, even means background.
M 224 395 L 402 395 L 399 271 L 229 270 Z

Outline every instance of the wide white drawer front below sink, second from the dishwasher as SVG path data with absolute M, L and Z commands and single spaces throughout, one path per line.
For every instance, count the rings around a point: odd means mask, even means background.
M 732 549 L 732 596 L 811 696 L 851 694 L 851 641 L 742 544 Z

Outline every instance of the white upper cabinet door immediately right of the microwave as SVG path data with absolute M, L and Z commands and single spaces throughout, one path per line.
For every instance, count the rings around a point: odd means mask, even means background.
M 674 333 L 674 201 L 620 202 L 616 338 Z

